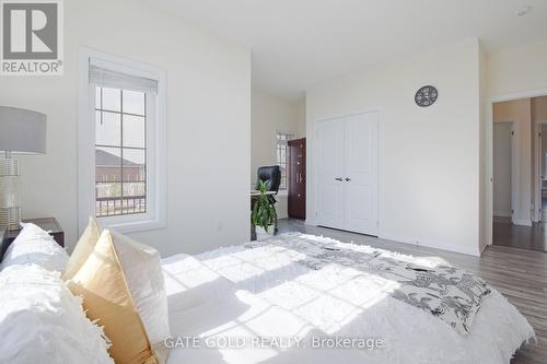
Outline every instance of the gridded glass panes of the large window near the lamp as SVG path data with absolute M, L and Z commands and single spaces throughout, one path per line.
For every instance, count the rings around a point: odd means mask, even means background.
M 147 212 L 147 93 L 95 86 L 95 215 Z

